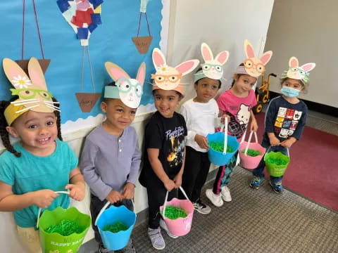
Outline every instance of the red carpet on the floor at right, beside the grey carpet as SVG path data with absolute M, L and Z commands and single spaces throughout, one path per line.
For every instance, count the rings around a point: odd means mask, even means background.
M 264 131 L 264 114 L 256 115 L 258 137 Z M 338 136 L 305 126 L 292 145 L 291 162 L 283 186 L 338 212 Z

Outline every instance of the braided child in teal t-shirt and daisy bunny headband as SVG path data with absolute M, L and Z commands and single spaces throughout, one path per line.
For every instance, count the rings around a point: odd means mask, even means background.
M 47 91 L 36 58 L 28 63 L 30 77 L 4 58 L 4 72 L 15 89 L 0 104 L 0 135 L 6 151 L 0 156 L 0 212 L 13 212 L 20 240 L 32 253 L 42 252 L 36 231 L 39 208 L 67 208 L 69 196 L 84 198 L 84 180 L 77 157 L 62 141 L 56 99 Z M 8 133 L 20 142 L 11 145 Z M 58 195 L 56 191 L 70 190 Z

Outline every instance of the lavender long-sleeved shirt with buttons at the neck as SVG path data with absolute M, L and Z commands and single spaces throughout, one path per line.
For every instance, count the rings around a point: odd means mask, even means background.
M 122 192 L 125 183 L 136 184 L 140 163 L 134 127 L 127 126 L 122 136 L 113 136 L 100 125 L 86 138 L 80 169 L 91 192 L 103 201 L 111 190 Z

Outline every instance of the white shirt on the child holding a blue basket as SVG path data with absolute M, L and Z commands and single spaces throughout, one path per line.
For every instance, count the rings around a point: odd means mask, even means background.
M 193 98 L 187 100 L 182 105 L 180 114 L 184 117 L 188 129 L 186 145 L 196 151 L 206 153 L 208 150 L 200 148 L 194 138 L 196 134 L 207 136 L 215 133 L 218 118 L 218 105 L 215 99 L 209 100 L 208 103 L 194 102 Z

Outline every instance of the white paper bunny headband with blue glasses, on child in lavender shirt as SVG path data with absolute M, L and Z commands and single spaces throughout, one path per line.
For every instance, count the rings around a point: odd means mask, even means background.
M 105 86 L 104 98 L 119 98 L 130 108 L 137 108 L 143 93 L 146 63 L 141 63 L 139 66 L 136 79 L 130 78 L 129 74 L 115 63 L 106 62 L 105 66 L 108 74 L 116 82 L 116 86 Z

